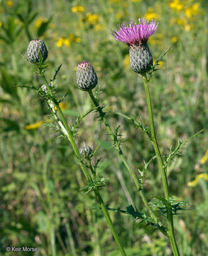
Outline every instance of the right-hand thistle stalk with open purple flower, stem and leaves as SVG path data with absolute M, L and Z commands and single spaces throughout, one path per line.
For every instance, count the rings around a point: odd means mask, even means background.
M 146 91 L 146 101 L 148 106 L 148 116 L 149 116 L 149 127 L 150 132 L 148 132 L 148 136 L 150 142 L 153 144 L 153 148 L 155 150 L 155 156 L 158 161 L 158 169 L 160 170 L 160 176 L 163 181 L 163 191 L 165 194 L 165 198 L 162 196 L 158 196 L 158 201 L 152 202 L 154 206 L 158 203 L 160 210 L 163 210 L 163 214 L 165 213 L 168 219 L 168 228 L 166 229 L 166 234 L 170 239 L 170 244 L 173 249 L 173 254 L 175 256 L 179 256 L 180 252 L 177 247 L 177 242 L 175 239 L 174 233 L 174 223 L 173 223 L 173 215 L 180 210 L 180 206 L 182 206 L 182 202 L 178 203 L 175 206 L 175 200 L 171 198 L 170 189 L 168 186 L 168 178 L 166 174 L 168 161 L 170 159 L 173 151 L 170 152 L 170 155 L 166 157 L 165 161 L 163 160 L 160 154 L 160 148 L 158 146 L 158 140 L 155 132 L 155 124 L 153 119 L 153 107 L 150 98 L 150 90 L 149 90 L 149 82 L 152 78 L 153 72 L 155 71 L 156 65 L 158 65 L 158 61 L 163 58 L 163 56 L 167 53 L 165 51 L 160 55 L 160 58 L 153 65 L 153 57 L 148 48 L 148 38 L 157 31 L 158 23 L 156 21 L 146 21 L 144 18 L 138 19 L 138 24 L 136 22 L 131 21 L 128 25 L 123 22 L 121 25 L 118 25 L 118 31 L 113 30 L 111 33 L 117 41 L 124 42 L 129 47 L 129 58 L 130 65 L 134 72 L 141 74 L 143 78 L 143 85 Z M 134 121 L 131 119 L 131 121 Z M 141 124 L 139 127 L 142 127 Z M 197 133 L 198 134 L 198 133 Z M 195 134 L 195 135 L 197 135 Z M 194 135 L 194 136 L 195 136 Z M 192 139 L 192 137 L 190 138 Z M 187 140 L 188 142 L 189 140 Z M 185 142 L 185 143 L 187 143 Z M 174 156 L 175 154 L 173 154 Z M 156 206 L 157 207 L 157 206 Z M 165 211 L 164 211 L 165 209 Z

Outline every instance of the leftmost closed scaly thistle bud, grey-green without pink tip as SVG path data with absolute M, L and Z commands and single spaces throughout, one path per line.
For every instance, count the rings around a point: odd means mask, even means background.
M 39 63 L 39 53 L 41 53 L 44 62 L 48 57 L 48 50 L 45 43 L 40 39 L 34 39 L 28 45 L 28 60 L 31 61 L 31 63 Z

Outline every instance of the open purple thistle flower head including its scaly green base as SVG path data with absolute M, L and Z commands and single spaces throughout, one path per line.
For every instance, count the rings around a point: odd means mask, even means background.
M 153 57 L 148 48 L 148 38 L 157 31 L 158 23 L 156 21 L 147 21 L 145 18 L 139 18 L 138 24 L 131 21 L 118 25 L 119 31 L 111 34 L 117 41 L 126 43 L 129 46 L 130 65 L 133 71 L 143 74 L 150 70 L 153 65 Z

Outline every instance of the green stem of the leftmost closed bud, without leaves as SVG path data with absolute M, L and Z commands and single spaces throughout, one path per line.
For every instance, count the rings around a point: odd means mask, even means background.
M 75 138 L 73 137 L 73 134 L 71 132 L 71 129 L 69 127 L 69 125 L 67 124 L 67 120 L 65 119 L 65 116 L 64 114 L 62 113 L 62 110 L 60 109 L 60 106 L 58 104 L 58 102 L 54 99 L 53 97 L 53 92 L 52 90 L 50 89 L 50 86 L 48 84 L 48 80 L 45 78 L 45 75 L 43 74 L 43 71 L 41 70 L 41 68 L 39 69 L 40 71 L 40 75 L 41 75 L 41 78 L 43 79 L 43 81 L 45 82 L 45 85 L 48 89 L 48 95 L 49 95 L 49 98 L 50 100 L 53 102 L 54 106 L 56 107 L 57 109 L 57 112 L 60 116 L 60 121 L 61 121 L 61 124 L 60 127 L 62 128 L 63 132 L 67 135 L 67 138 L 72 146 L 72 149 L 74 150 L 75 152 L 75 156 L 77 156 L 77 159 L 79 160 L 79 164 L 80 164 L 80 167 L 83 171 L 83 174 L 84 176 L 87 178 L 87 181 L 91 181 L 91 177 L 89 176 L 88 172 L 87 172 L 87 169 L 85 168 L 85 166 L 82 164 L 82 156 L 80 156 L 80 151 L 79 149 L 77 148 L 77 144 L 75 143 Z M 54 112 L 53 112 L 54 113 Z M 54 113 L 55 114 L 55 113 Z M 55 114 L 56 116 L 56 114 Z M 57 116 L 56 116 L 57 117 Z M 57 117 L 58 118 L 58 117 Z M 63 126 L 63 127 L 62 127 Z M 116 233 L 116 230 L 114 228 L 114 224 L 112 223 L 112 220 L 111 220 L 111 217 L 108 213 L 108 210 L 106 210 L 106 206 L 104 205 L 104 202 L 102 200 L 102 197 L 100 196 L 99 194 L 99 191 L 95 190 L 94 191 L 94 194 L 99 202 L 99 205 L 100 207 L 102 208 L 102 211 L 104 213 L 104 216 L 106 218 L 106 221 L 109 225 L 109 228 L 111 228 L 111 233 L 114 235 L 114 239 L 116 240 L 116 244 L 118 245 L 119 247 L 119 250 L 121 252 L 121 255 L 122 256 L 127 256 L 126 255 L 126 252 L 124 250 L 124 247 L 123 245 L 121 244 L 121 241 L 119 240 L 119 235 Z

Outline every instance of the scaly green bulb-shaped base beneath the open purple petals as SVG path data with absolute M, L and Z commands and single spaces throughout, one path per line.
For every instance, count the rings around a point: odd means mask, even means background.
M 146 73 L 153 65 L 153 57 L 146 42 L 129 46 L 130 65 L 138 74 Z

